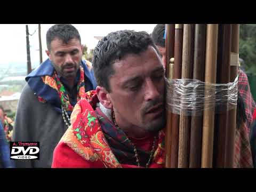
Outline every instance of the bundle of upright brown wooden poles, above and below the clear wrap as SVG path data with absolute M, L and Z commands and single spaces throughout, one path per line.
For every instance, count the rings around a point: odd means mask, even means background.
M 166 24 L 165 29 L 167 78 L 235 81 L 238 24 Z M 201 115 L 177 114 L 166 107 L 166 118 L 165 167 L 234 167 L 236 107 L 227 105 L 219 113 L 203 110 Z

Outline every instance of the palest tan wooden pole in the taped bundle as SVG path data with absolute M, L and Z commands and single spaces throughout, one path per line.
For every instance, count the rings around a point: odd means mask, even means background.
M 205 83 L 215 83 L 217 73 L 218 24 L 207 24 L 205 52 Z M 214 93 L 213 93 L 214 94 Z M 209 103 L 205 99 L 204 108 Z M 214 109 L 204 110 L 201 167 L 212 167 Z

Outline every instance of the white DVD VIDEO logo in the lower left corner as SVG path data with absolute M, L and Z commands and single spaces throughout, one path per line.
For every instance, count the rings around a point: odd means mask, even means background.
M 12 159 L 39 159 L 39 145 L 36 146 L 15 146 L 11 147 L 11 158 Z

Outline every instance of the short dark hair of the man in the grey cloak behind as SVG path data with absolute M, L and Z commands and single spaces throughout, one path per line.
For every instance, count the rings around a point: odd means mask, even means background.
M 51 51 L 51 42 L 56 37 L 61 39 L 66 44 L 70 39 L 73 38 L 78 39 L 81 43 L 81 37 L 78 33 L 78 30 L 70 24 L 56 24 L 47 30 L 46 45 L 49 51 Z

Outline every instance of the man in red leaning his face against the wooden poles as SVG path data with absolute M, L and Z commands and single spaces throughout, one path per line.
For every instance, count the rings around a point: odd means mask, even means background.
M 99 86 L 77 103 L 52 167 L 163 167 L 164 67 L 149 34 L 108 34 L 92 63 Z

